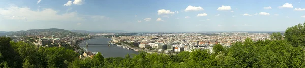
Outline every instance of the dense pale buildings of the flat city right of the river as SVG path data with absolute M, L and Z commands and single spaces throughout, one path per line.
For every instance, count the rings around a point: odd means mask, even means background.
M 269 38 L 268 33 L 214 33 L 212 35 L 204 35 L 199 33 L 176 33 L 176 34 L 162 34 L 150 33 L 144 35 L 120 36 L 113 37 L 112 41 L 115 43 L 127 42 L 137 43 L 134 46 L 139 48 L 157 48 L 156 51 L 165 50 L 165 52 L 180 52 L 189 51 L 193 49 L 209 49 L 212 51 L 212 46 L 221 44 L 223 46 L 230 46 L 235 42 L 243 42 L 247 37 L 252 38 L 253 41 L 266 40 Z M 138 45 L 139 44 L 139 45 Z

